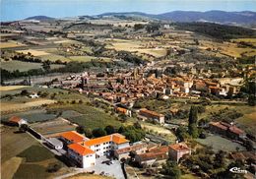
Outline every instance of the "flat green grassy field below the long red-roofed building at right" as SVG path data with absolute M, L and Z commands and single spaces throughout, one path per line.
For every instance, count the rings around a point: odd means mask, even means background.
M 219 135 L 212 135 L 206 139 L 196 139 L 196 141 L 201 145 L 213 147 L 215 151 L 222 149 L 224 151 L 230 152 L 236 151 L 236 148 L 239 148 L 239 150 L 245 150 L 245 148 L 241 145 L 233 143 Z

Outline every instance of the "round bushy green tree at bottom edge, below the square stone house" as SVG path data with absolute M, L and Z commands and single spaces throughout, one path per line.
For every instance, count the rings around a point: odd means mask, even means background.
M 171 160 L 167 160 L 166 163 L 162 165 L 162 173 L 172 179 L 179 179 L 181 176 L 181 171 L 177 163 Z

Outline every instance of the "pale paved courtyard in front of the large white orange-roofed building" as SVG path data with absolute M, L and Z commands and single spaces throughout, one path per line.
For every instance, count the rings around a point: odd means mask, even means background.
M 112 162 L 107 162 L 108 160 L 106 156 L 100 156 L 96 158 L 95 166 L 83 170 L 87 172 L 95 171 L 96 174 L 111 176 L 116 179 L 124 179 L 120 161 L 112 160 Z

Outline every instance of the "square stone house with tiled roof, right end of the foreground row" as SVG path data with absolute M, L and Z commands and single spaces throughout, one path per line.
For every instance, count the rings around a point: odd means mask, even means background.
M 169 157 L 176 162 L 185 154 L 191 154 L 191 149 L 189 149 L 185 143 L 169 146 Z

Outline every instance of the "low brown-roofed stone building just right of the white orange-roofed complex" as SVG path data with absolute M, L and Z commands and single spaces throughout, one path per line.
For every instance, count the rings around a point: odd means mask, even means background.
M 114 151 L 114 156 L 117 159 L 128 158 L 131 151 L 135 151 L 137 154 L 145 153 L 147 150 L 147 144 L 136 144 L 124 149 L 116 149 Z

